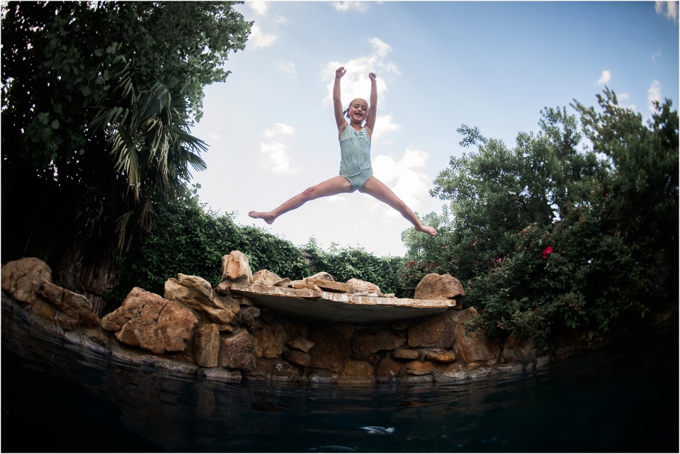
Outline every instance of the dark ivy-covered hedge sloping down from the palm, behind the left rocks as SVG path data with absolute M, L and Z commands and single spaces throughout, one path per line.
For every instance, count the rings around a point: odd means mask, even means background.
M 196 201 L 159 207 L 155 226 L 144 244 L 119 256 L 108 307 L 118 307 L 133 287 L 163 295 L 164 283 L 178 273 L 200 276 L 212 285 L 222 281 L 222 257 L 242 251 L 253 271 L 268 269 L 281 277 L 310 276 L 300 248 L 257 227 L 234 224 L 231 215 L 205 210 Z

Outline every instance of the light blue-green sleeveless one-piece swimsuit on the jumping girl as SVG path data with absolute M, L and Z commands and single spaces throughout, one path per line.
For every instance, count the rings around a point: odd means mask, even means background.
M 370 166 L 370 137 L 362 127 L 356 131 L 351 125 L 345 127 L 340 137 L 340 174 L 352 183 L 352 190 L 358 191 L 373 175 Z

